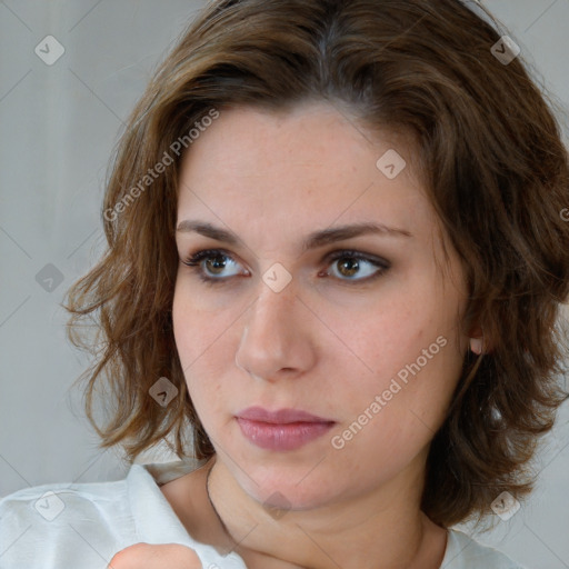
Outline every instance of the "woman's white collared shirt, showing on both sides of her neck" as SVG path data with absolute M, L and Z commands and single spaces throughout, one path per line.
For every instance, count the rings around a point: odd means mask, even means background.
M 140 541 L 188 546 L 203 569 L 247 569 L 237 553 L 223 557 L 194 541 L 160 491 L 203 463 L 133 465 L 124 480 L 38 486 L 4 497 L 0 569 L 107 569 L 117 551 Z M 523 569 L 457 530 L 449 530 L 441 568 Z

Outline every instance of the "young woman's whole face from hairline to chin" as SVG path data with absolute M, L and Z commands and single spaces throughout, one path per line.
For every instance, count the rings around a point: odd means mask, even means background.
M 393 140 L 323 103 L 234 108 L 183 160 L 176 343 L 218 460 L 260 501 L 311 508 L 420 480 L 443 420 L 466 283 Z M 247 420 L 251 407 L 321 420 Z

